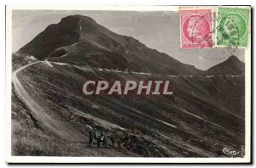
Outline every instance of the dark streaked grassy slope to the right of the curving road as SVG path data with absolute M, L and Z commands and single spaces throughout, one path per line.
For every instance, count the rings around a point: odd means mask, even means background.
M 84 130 L 85 124 L 106 129 L 108 135 L 116 134 L 119 151 L 131 151 L 143 156 L 224 156 L 222 148 L 225 146 L 241 148 L 244 144 L 241 136 L 244 132 L 244 123 L 229 114 L 235 109 L 226 109 L 218 101 L 221 92 L 226 91 L 225 87 L 231 88 L 229 92 L 235 92 L 236 88 L 241 88 L 242 78 L 170 77 L 169 80 L 176 88 L 175 99 L 162 96 L 84 98 L 81 92 L 84 80 L 96 80 L 96 78 L 108 81 L 149 80 L 157 76 L 119 74 L 100 70 L 90 72 L 79 70 L 72 65 L 56 64 L 55 68 L 38 64 L 20 73 L 21 83 L 43 106 L 57 111 L 63 120 L 73 123 L 73 126 L 81 132 L 88 133 Z M 213 82 L 216 86 L 212 86 L 213 91 L 211 91 L 209 85 Z M 213 94 L 216 92 L 214 89 L 218 91 L 216 95 Z M 242 95 L 242 92 L 235 93 Z M 230 98 L 232 95 L 230 97 L 226 95 L 226 97 Z M 240 99 L 232 101 L 241 102 Z M 93 108 L 93 104 L 100 108 Z M 106 126 L 102 128 L 101 125 L 96 124 L 95 120 L 78 115 L 78 111 L 125 127 L 127 132 Z M 188 111 L 205 120 L 189 115 Z M 154 118 L 173 124 L 178 129 L 166 126 Z

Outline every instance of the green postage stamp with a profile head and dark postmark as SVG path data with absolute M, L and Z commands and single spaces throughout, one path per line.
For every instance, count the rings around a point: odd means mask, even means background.
M 248 8 L 218 8 L 217 47 L 247 47 Z

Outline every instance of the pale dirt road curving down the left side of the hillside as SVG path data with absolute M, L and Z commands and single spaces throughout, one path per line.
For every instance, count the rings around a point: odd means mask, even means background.
M 58 137 L 65 140 L 67 143 L 80 143 L 79 146 L 83 147 L 82 150 L 88 150 L 88 154 L 92 155 L 101 155 L 101 156 L 122 156 L 124 154 L 119 153 L 114 148 L 89 148 L 87 147 L 88 137 L 83 133 L 76 130 L 70 123 L 63 122 L 58 120 L 60 117 L 56 114 L 55 111 L 45 110 L 38 102 L 32 98 L 26 89 L 22 86 L 19 81 L 17 74 L 21 70 L 26 69 L 28 66 L 33 64 L 41 64 L 42 61 L 34 62 L 31 64 L 26 64 L 25 66 L 20 67 L 18 70 L 15 70 L 12 74 L 12 81 L 14 84 L 14 90 L 17 97 L 23 104 L 26 105 L 28 109 L 30 109 L 31 115 L 38 120 L 38 123 L 44 130 L 55 133 Z

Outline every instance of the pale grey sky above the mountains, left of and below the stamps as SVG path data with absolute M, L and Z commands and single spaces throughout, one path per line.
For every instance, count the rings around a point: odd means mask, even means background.
M 68 15 L 89 16 L 119 35 L 133 36 L 148 48 L 167 53 L 172 58 L 207 70 L 236 55 L 244 62 L 241 48 L 180 48 L 179 17 L 171 11 L 78 11 L 78 10 L 13 10 L 12 52 L 17 52 L 50 24 Z

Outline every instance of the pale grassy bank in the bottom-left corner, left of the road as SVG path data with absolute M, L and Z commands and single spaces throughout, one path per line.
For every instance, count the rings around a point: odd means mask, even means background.
M 42 130 L 29 114 L 15 94 L 12 94 L 12 155 L 90 155 L 80 149 L 81 145 L 65 143 L 59 137 Z

